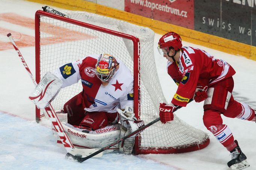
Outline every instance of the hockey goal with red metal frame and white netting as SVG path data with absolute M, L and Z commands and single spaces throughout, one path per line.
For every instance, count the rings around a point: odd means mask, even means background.
M 110 53 L 125 63 L 134 76 L 134 113 L 145 124 L 159 117 L 164 98 L 154 59 L 154 31 L 95 13 L 61 10 L 69 16 L 38 10 L 35 14 L 36 82 L 47 71 L 89 54 Z M 60 90 L 51 102 L 55 110 L 82 91 L 81 81 Z M 43 110 L 36 108 L 36 120 Z M 135 154 L 170 154 L 195 151 L 209 144 L 209 136 L 174 114 L 171 123 L 160 121 L 136 137 Z

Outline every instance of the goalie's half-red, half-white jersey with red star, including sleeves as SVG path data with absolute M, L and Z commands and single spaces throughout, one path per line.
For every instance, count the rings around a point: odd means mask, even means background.
M 68 63 L 54 72 L 65 88 L 81 79 L 83 86 L 84 110 L 116 112 L 116 108 L 133 106 L 133 77 L 130 70 L 120 61 L 119 69 L 113 75 L 107 86 L 103 86 L 96 76 L 95 65 L 100 55 L 89 55 L 81 60 Z M 74 96 L 77 94 L 74 94 Z

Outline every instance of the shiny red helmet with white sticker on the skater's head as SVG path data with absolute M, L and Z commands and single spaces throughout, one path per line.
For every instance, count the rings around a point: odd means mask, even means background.
M 169 32 L 164 34 L 158 42 L 158 49 L 166 50 L 169 52 L 169 48 L 173 47 L 174 50 L 178 51 L 182 47 L 181 37 L 179 34 L 174 32 Z

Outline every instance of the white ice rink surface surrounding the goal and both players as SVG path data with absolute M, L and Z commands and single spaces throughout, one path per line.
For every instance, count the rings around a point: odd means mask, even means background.
M 101 158 L 90 158 L 79 164 L 65 159 L 66 151 L 57 145 L 52 135 L 50 122 L 35 122 L 35 106 L 28 96 L 34 85 L 27 75 L 6 34 L 12 33 L 20 47 L 24 59 L 35 75 L 35 47 L 33 25 L 30 28 L 15 24 L 26 18 L 34 19 L 36 10 L 47 4 L 31 3 L 23 0 L 0 0 L 0 170 L 7 169 L 168 169 L 168 170 L 229 170 L 227 162 L 230 153 L 206 130 L 203 125 L 203 102 L 191 102 L 179 109 L 176 115 L 188 124 L 210 135 L 209 146 L 200 151 L 184 154 L 123 155 L 105 154 Z M 11 17 L 15 16 L 10 20 Z M 32 23 L 33 24 L 33 23 Z M 176 92 L 176 84 L 167 75 L 166 59 L 157 52 L 161 35 L 155 35 L 155 61 L 160 83 L 167 101 Z M 25 45 L 24 45 L 25 44 Z M 26 45 L 28 44 L 28 45 Z M 246 102 L 256 109 L 255 74 L 256 61 L 241 56 L 230 55 L 196 44 L 183 42 L 184 46 L 197 47 L 211 53 L 215 58 L 227 61 L 236 70 L 233 76 L 234 98 Z M 232 130 L 233 136 L 247 156 L 250 167 L 256 170 L 256 124 L 239 119 L 223 117 L 223 123 Z

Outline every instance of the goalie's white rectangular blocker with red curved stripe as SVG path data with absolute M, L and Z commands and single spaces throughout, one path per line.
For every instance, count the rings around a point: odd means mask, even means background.
M 29 96 L 29 99 L 38 108 L 43 109 L 57 96 L 61 86 L 62 80 L 51 72 L 47 72 Z

